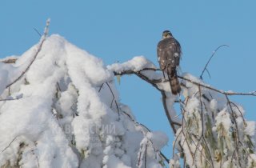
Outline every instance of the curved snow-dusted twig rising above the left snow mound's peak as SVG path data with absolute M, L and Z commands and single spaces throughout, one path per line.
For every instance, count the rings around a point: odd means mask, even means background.
M 10 82 L 10 84 L 8 84 L 8 85 L 6 86 L 6 88 L 9 88 L 9 87 L 12 86 L 15 82 L 18 82 L 18 80 L 21 79 L 24 74 L 26 74 L 27 70 L 30 69 L 30 66 L 33 64 L 34 60 L 37 58 L 38 53 L 42 50 L 42 44 L 43 44 L 43 42 L 46 41 L 47 35 L 48 35 L 48 33 L 49 33 L 49 26 L 50 26 L 50 19 L 48 19 L 48 20 L 46 21 L 46 28 L 45 28 L 45 30 L 44 30 L 44 34 L 42 35 L 42 38 L 40 39 L 40 43 L 39 43 L 39 45 L 38 45 L 38 50 L 35 52 L 34 57 L 33 57 L 33 59 L 31 60 L 30 64 L 29 64 L 28 66 L 26 66 L 26 69 L 22 72 L 22 74 L 20 74 L 20 75 L 18 76 L 18 78 L 16 78 L 13 82 Z

